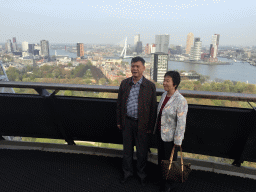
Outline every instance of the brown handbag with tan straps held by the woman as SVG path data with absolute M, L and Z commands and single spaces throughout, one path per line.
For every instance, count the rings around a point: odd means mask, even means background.
M 188 175 L 191 172 L 191 164 L 185 163 L 183 164 L 183 157 L 182 157 L 182 148 L 180 147 L 180 161 L 173 161 L 175 145 L 172 148 L 172 153 L 170 160 L 162 160 L 161 168 L 162 168 L 162 176 L 163 179 L 175 182 L 185 182 L 188 179 Z

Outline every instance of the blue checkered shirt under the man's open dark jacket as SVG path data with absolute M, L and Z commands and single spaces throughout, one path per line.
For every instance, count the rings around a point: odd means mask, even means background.
M 127 100 L 127 116 L 129 117 L 138 118 L 138 98 L 139 98 L 140 85 L 142 83 L 142 80 L 143 80 L 143 77 L 141 77 L 136 84 L 134 84 L 132 80 L 133 85 Z

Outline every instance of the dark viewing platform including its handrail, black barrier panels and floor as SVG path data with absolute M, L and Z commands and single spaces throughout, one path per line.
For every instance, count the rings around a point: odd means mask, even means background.
M 157 154 L 149 154 L 146 187 L 136 178 L 124 185 L 122 150 L 86 147 L 76 141 L 122 144 L 116 127 L 116 99 L 58 96 L 60 90 L 118 92 L 118 87 L 0 82 L 38 94 L 0 94 L 1 136 L 63 139 L 67 145 L 6 141 L 1 145 L 1 191 L 158 191 Z M 50 92 L 49 90 L 52 90 Z M 185 97 L 256 102 L 256 95 L 180 90 Z M 157 89 L 157 95 L 163 93 Z M 185 158 L 189 180 L 178 191 L 255 191 L 256 110 L 189 104 L 183 150 L 232 159 L 232 164 Z M 156 148 L 151 136 L 151 148 Z M 14 150 L 15 149 L 15 150 Z

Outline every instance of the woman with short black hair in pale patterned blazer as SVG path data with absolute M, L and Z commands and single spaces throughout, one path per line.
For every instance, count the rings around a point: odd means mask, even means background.
M 154 134 L 158 138 L 158 165 L 161 161 L 169 160 L 175 144 L 173 161 L 177 161 L 178 148 L 184 138 L 188 104 L 186 99 L 177 90 L 180 84 L 180 74 L 177 71 L 168 71 L 164 75 L 164 90 L 157 109 L 157 121 Z M 173 183 L 164 179 L 160 191 L 171 191 Z

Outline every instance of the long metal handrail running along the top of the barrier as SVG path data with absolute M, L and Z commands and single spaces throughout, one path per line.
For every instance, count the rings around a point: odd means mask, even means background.
M 118 86 L 102 86 L 102 85 L 83 85 L 83 84 L 60 84 L 60 83 L 39 83 L 39 82 L 1 82 L 0 87 L 12 88 L 30 88 L 30 89 L 50 89 L 50 90 L 72 90 L 72 91 L 93 91 L 118 93 Z M 217 99 L 229 101 L 245 101 L 256 102 L 256 94 L 244 93 L 227 93 L 227 92 L 211 92 L 211 91 L 190 91 L 179 90 L 184 97 Z M 163 89 L 156 89 L 157 96 L 164 93 Z

